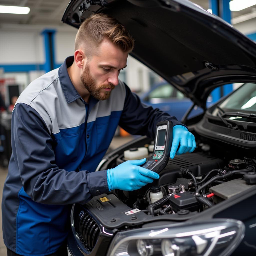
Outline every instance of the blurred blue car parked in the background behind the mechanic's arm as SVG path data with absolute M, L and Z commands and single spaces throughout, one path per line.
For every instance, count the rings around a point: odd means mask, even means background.
M 193 105 L 193 102 L 166 81 L 155 84 L 148 92 L 141 95 L 141 101 L 153 108 L 158 108 L 182 120 L 186 111 Z M 207 99 L 207 107 L 212 103 L 212 97 Z M 202 108 L 197 106 L 190 112 L 188 118 L 203 113 Z

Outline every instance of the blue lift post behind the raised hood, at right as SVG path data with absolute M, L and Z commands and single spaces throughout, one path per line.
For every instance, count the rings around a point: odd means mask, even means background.
M 231 11 L 229 8 L 230 0 L 209 0 L 209 6 L 212 9 L 212 13 L 220 16 L 226 22 L 231 23 Z M 212 101 L 216 102 L 222 96 L 230 93 L 233 90 L 233 84 L 226 84 L 222 88 L 218 87 L 212 91 Z

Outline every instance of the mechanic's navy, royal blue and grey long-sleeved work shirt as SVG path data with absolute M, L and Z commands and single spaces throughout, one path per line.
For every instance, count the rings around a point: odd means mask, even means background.
M 3 189 L 5 245 L 21 255 L 56 252 L 67 237 L 70 205 L 109 192 L 107 171 L 94 172 L 120 125 L 154 138 L 156 123 L 175 117 L 141 103 L 121 81 L 110 98 L 87 104 L 67 67 L 22 92 L 12 113 L 12 150 Z

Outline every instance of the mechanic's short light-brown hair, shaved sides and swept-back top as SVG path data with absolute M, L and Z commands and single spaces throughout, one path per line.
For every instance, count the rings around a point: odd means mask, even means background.
M 82 48 L 89 58 L 104 38 L 124 52 L 130 53 L 134 47 L 134 39 L 115 18 L 106 14 L 93 14 L 83 21 L 77 31 L 75 51 Z

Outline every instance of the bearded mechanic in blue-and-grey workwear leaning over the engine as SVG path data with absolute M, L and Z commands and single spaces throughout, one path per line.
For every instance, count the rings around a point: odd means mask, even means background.
M 18 98 L 2 201 L 8 255 L 65 255 L 72 204 L 113 189 L 139 189 L 159 178 L 140 167 L 146 159 L 94 172 L 118 125 L 154 138 L 156 123 L 171 120 L 170 157 L 195 149 L 186 126 L 142 104 L 118 80 L 133 45 L 123 25 L 93 15 L 77 32 L 74 56 L 31 82 Z

